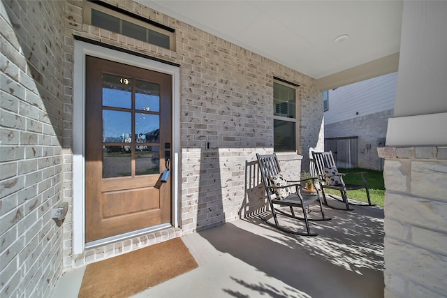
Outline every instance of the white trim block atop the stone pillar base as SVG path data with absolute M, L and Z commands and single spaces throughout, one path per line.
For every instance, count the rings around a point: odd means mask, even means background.
M 386 146 L 446 146 L 447 112 L 388 119 Z

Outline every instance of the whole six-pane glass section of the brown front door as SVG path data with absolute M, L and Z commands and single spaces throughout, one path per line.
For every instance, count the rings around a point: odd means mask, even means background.
M 159 84 L 103 73 L 102 141 L 103 178 L 159 174 Z

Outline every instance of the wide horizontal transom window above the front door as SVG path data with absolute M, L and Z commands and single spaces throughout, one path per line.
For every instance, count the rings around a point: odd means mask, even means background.
M 120 8 L 107 8 L 105 6 L 108 6 L 108 4 L 98 5 L 91 1 L 86 1 L 84 22 L 142 40 L 145 43 L 152 43 L 168 50 L 175 50 L 174 29 L 152 22 L 139 15 L 133 15 Z

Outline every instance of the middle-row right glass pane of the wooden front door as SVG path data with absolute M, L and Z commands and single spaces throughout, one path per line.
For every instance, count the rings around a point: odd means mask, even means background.
M 160 116 L 135 112 L 135 134 L 136 142 L 159 142 Z

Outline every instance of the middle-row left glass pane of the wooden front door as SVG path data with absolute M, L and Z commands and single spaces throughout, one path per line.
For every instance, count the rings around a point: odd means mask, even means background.
M 131 142 L 132 113 L 103 110 L 103 142 Z

